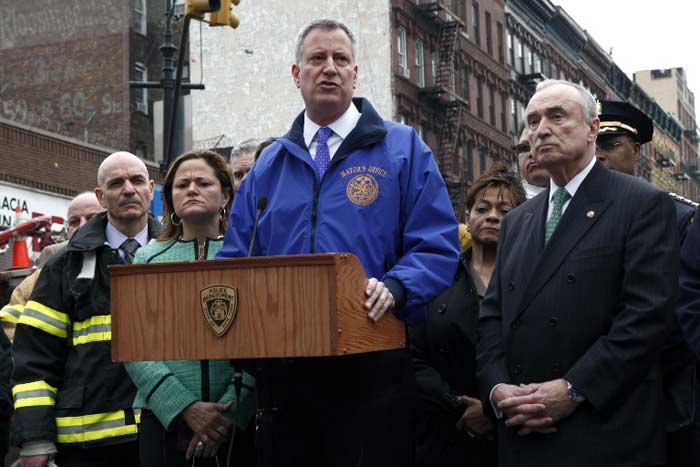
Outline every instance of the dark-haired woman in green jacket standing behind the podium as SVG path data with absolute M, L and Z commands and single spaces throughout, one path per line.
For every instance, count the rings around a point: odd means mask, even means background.
M 211 151 L 179 156 L 163 185 L 163 233 L 137 251 L 134 263 L 213 259 L 223 243 L 233 192 L 223 157 Z M 134 407 L 144 410 L 142 465 L 227 465 L 231 440 L 255 410 L 250 375 L 228 360 L 132 362 L 126 368 L 138 388 Z M 237 454 L 252 456 L 252 446 L 240 446 L 242 439 Z M 242 462 L 240 455 L 233 463 Z

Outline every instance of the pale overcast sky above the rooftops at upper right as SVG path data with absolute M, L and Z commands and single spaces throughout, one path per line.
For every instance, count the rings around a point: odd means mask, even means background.
M 682 67 L 700 99 L 700 15 L 695 1 L 552 0 L 588 31 L 632 79 L 632 73 Z

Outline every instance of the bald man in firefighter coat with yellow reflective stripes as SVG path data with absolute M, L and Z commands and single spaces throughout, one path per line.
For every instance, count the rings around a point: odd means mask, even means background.
M 44 266 L 15 332 L 15 439 L 24 467 L 139 465 L 136 390 L 112 362 L 107 267 L 156 235 L 153 180 L 117 152 L 98 170 L 101 212 Z M 79 220 L 76 220 L 79 224 Z M 70 223 L 70 221 L 69 221 Z

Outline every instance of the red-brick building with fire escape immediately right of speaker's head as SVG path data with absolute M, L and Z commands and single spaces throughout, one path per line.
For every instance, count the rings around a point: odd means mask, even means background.
M 459 218 L 470 183 L 512 162 L 502 0 L 392 0 L 395 114 L 433 149 Z

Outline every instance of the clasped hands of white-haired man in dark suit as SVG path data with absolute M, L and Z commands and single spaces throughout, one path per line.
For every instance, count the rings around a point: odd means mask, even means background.
M 517 428 L 521 436 L 556 432 L 556 424 L 578 406 L 569 399 L 568 384 L 562 378 L 520 386 L 499 384 L 491 398 L 506 426 Z

